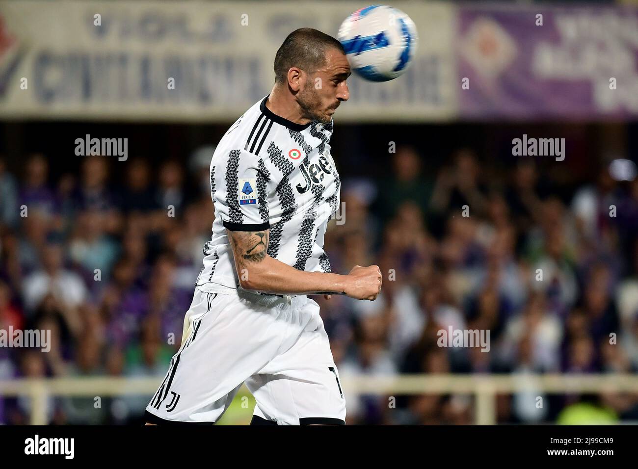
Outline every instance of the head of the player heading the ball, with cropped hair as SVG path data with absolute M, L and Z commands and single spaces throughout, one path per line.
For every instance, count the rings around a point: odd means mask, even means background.
M 304 117 L 329 124 L 340 101 L 347 101 L 350 64 L 341 43 L 309 27 L 288 34 L 277 51 L 275 84 L 295 96 Z

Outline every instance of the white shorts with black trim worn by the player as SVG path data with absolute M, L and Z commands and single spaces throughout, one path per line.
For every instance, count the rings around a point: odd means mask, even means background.
M 149 423 L 214 424 L 242 383 L 253 424 L 345 424 L 319 305 L 306 297 L 195 290 L 182 344 L 146 407 Z

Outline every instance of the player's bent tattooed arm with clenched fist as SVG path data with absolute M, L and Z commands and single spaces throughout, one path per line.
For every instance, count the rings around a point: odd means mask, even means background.
M 278 295 L 341 294 L 374 300 L 382 277 L 376 265 L 355 266 L 350 274 L 298 271 L 267 254 L 270 230 L 226 230 L 233 249 L 239 285 Z

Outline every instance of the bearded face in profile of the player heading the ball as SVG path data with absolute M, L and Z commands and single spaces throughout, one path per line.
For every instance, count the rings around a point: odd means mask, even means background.
M 308 73 L 308 80 L 300 87 L 297 102 L 304 117 L 329 124 L 341 101 L 348 101 L 350 92 L 346 78 L 350 76 L 350 64 L 339 50 L 326 51 L 326 63 L 315 73 Z

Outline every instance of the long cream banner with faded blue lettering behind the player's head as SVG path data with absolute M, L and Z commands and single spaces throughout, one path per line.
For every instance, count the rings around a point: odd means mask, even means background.
M 420 27 L 413 64 L 394 82 L 350 78 L 342 122 L 455 114 L 454 9 L 395 6 Z M 357 2 L 4 2 L 0 117 L 233 121 L 269 93 L 274 56 L 288 33 L 315 27 L 336 36 L 357 8 Z

